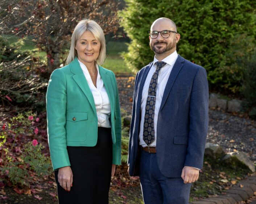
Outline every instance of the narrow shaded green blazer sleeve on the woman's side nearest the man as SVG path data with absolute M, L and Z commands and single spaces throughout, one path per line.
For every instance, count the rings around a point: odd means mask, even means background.
M 116 83 L 115 74 L 113 74 L 113 80 L 115 81 L 116 86 L 116 98 L 115 98 L 115 135 L 116 135 L 116 143 L 113 144 L 113 160 L 112 164 L 120 165 L 121 164 L 121 110 L 120 110 L 120 102 L 119 102 L 119 95 L 118 95 L 118 88 Z

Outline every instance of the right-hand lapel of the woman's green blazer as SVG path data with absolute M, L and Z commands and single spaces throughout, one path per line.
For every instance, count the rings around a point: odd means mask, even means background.
M 104 84 L 107 94 L 108 94 L 108 98 L 110 99 L 111 113 L 113 113 L 111 115 L 114 115 L 115 100 L 114 100 L 114 95 L 113 95 L 113 88 L 111 86 L 111 78 L 100 65 L 98 65 L 98 67 L 99 67 L 100 77 L 102 78 L 103 84 Z

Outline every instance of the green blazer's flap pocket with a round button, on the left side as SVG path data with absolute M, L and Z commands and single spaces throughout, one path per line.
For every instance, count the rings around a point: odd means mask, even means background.
M 67 141 L 85 141 L 88 112 L 68 111 L 66 113 Z

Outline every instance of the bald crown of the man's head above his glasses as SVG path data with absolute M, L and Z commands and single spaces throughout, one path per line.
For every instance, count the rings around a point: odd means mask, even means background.
M 158 18 L 153 22 L 153 24 L 150 27 L 150 30 L 173 30 L 177 32 L 176 24 L 170 20 L 169 18 Z

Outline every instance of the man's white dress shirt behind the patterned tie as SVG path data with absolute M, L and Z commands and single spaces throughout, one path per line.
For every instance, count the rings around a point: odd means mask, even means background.
M 157 79 L 157 90 L 156 90 L 156 105 L 155 105 L 155 111 L 154 111 L 154 138 L 155 140 L 153 143 L 150 144 L 150 146 L 156 146 L 156 140 L 157 140 L 157 119 L 158 119 L 158 112 L 160 109 L 160 105 L 162 102 L 162 97 L 164 94 L 165 86 L 167 84 L 168 78 L 170 76 L 170 73 L 172 71 L 173 65 L 176 62 L 178 58 L 177 52 L 173 52 L 169 56 L 167 56 L 165 59 L 162 61 L 166 62 L 166 65 L 162 67 L 159 71 L 158 79 Z M 146 143 L 143 140 L 143 127 L 144 127 L 144 118 L 145 118 L 145 108 L 146 108 L 146 100 L 148 98 L 148 89 L 149 89 L 149 84 L 150 80 L 153 76 L 153 73 L 156 71 L 156 62 L 158 60 L 156 59 L 156 56 L 154 57 L 153 65 L 149 70 L 148 76 L 146 77 L 145 84 L 143 86 L 143 91 L 142 91 L 142 99 L 141 99 L 141 121 L 140 121 L 140 145 L 143 147 L 147 146 Z

